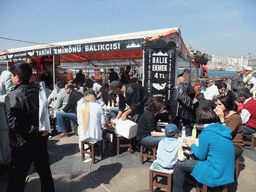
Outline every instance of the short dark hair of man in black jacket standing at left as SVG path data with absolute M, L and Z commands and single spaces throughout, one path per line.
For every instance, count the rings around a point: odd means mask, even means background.
M 12 65 L 10 72 L 14 76 L 17 75 L 20 78 L 21 83 L 29 83 L 29 80 L 32 76 L 32 67 L 30 64 L 22 61 Z

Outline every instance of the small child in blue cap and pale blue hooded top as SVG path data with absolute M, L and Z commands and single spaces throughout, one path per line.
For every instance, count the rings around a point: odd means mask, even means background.
M 158 144 L 157 162 L 163 168 L 173 168 L 175 163 L 184 161 L 186 157 L 178 137 L 178 127 L 175 124 L 168 124 L 165 127 L 167 138 L 162 139 Z

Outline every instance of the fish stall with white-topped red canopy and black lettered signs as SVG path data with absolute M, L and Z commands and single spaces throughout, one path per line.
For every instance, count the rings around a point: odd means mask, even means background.
M 178 73 L 183 69 L 191 69 L 193 80 L 197 80 L 200 69 L 192 63 L 179 28 L 51 43 L 0 53 L 0 61 L 9 65 L 28 59 L 33 67 L 34 81 L 38 80 L 42 69 L 47 68 L 53 74 L 54 84 L 63 63 L 74 66 L 83 63 L 84 69 L 88 65 L 103 69 L 134 66 L 140 69 L 142 83 L 148 91 L 163 97 L 176 84 Z

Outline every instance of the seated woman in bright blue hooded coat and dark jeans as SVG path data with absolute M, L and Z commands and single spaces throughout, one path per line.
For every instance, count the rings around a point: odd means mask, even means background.
M 235 155 L 231 129 L 217 123 L 217 115 L 208 106 L 199 109 L 197 121 L 206 126 L 199 135 L 199 146 L 193 141 L 185 143 L 199 160 L 176 163 L 173 172 L 173 192 L 184 191 L 186 174 L 191 174 L 199 183 L 209 187 L 234 182 Z

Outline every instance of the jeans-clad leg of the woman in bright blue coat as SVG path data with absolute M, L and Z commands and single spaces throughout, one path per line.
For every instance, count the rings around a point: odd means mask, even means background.
M 183 185 L 186 174 L 191 174 L 198 160 L 178 161 L 173 171 L 173 188 L 172 192 L 184 191 Z

